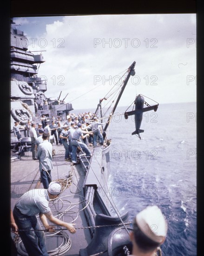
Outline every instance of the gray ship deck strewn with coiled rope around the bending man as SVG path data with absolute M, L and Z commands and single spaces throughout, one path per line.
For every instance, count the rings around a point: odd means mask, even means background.
M 70 249 L 62 254 L 54 253 L 57 247 L 62 247 L 62 238 L 59 236 L 50 236 L 52 233 L 46 232 L 46 246 L 50 255 L 79 255 L 79 249 L 86 248 L 91 242 L 92 236 L 90 229 L 81 229 L 87 227 L 86 216 L 83 211 L 84 204 L 80 203 L 83 201 L 83 182 L 85 178 L 85 171 L 78 164 L 72 166 L 71 162 L 64 160 L 65 150 L 63 145 L 53 144 L 55 149 L 55 155 L 53 156 L 53 170 L 51 171 L 52 180 L 65 179 L 65 176 L 72 172 L 72 184 L 66 188 L 64 192 L 59 196 L 60 201 L 57 206 L 52 205 L 50 202 L 53 215 L 55 216 L 56 209 L 60 212 L 66 211 L 61 220 L 66 222 L 73 222 L 76 224 L 75 234 L 71 234 L 67 230 L 63 230 L 69 236 L 69 243 L 71 242 Z M 25 152 L 20 160 L 14 160 L 11 162 L 11 209 L 13 209 L 15 202 L 18 198 L 26 191 L 35 188 L 43 188 L 42 183 L 39 182 L 39 161 L 32 159 L 32 152 Z M 62 205 L 63 204 L 63 205 Z M 55 209 L 56 208 L 56 209 Z M 79 216 L 78 216 L 79 215 Z M 77 217 L 78 216 L 78 217 Z M 44 227 L 42 227 L 44 229 Z M 56 227 L 56 229 L 62 227 Z M 63 228 L 64 229 L 64 228 Z M 13 239 L 15 237 L 12 234 Z M 18 247 L 18 243 L 17 243 Z M 20 255 L 20 254 L 19 254 Z M 26 254 L 24 254 L 26 255 Z

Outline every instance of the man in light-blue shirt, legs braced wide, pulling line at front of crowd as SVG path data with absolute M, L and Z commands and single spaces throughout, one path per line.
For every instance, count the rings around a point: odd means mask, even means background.
M 72 145 L 72 162 L 74 164 L 77 163 L 77 148 L 79 147 L 82 151 L 86 153 L 86 156 L 91 156 L 92 152 L 87 148 L 86 144 L 82 142 L 84 138 L 86 138 L 89 133 L 84 131 L 85 135 L 81 130 L 81 123 L 78 123 L 76 131 L 72 135 L 71 145 Z

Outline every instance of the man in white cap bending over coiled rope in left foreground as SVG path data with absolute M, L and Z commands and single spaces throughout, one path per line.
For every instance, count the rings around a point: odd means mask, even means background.
M 51 182 L 48 189 L 31 189 L 16 202 L 13 217 L 29 256 L 48 256 L 45 234 L 40 230 L 41 226 L 36 217 L 37 214 L 39 214 L 40 221 L 49 232 L 53 232 L 54 228 L 48 224 L 47 219 L 55 225 L 65 227 L 72 234 L 76 232 L 74 224 L 63 222 L 54 217 L 48 206 L 49 201 L 57 198 L 61 192 L 61 184 Z

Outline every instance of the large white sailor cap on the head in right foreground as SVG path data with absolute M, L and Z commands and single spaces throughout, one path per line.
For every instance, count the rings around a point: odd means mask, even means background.
M 148 206 L 137 214 L 135 220 L 140 230 L 151 240 L 162 243 L 167 233 L 167 222 L 157 205 Z

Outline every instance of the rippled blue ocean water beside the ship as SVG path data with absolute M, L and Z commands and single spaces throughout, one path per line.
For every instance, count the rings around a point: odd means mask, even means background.
M 112 139 L 109 193 L 130 220 L 158 205 L 168 222 L 164 256 L 197 255 L 196 103 L 160 104 L 143 114 L 141 140 L 134 117 L 118 107 L 108 130 Z

